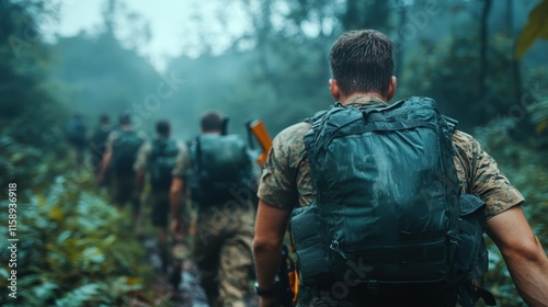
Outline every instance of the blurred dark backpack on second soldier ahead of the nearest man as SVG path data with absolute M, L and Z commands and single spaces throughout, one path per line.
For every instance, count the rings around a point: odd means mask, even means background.
M 150 185 L 152 189 L 167 190 L 171 185 L 179 148 L 173 139 L 156 139 L 150 152 Z

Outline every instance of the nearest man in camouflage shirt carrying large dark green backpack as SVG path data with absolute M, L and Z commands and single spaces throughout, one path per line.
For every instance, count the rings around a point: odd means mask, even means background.
M 493 296 L 487 232 L 518 294 L 548 303 L 548 258 L 496 162 L 434 100 L 388 103 L 392 43 L 349 31 L 330 53 L 327 111 L 281 132 L 259 184 L 253 241 L 260 306 L 279 306 L 275 280 L 290 225 L 297 306 L 473 306 Z

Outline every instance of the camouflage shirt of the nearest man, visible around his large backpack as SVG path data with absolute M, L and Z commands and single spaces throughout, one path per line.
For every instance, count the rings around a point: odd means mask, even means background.
M 364 107 L 367 104 L 384 103 L 372 98 L 357 98 L 349 105 Z M 259 183 L 259 197 L 282 209 L 308 206 L 315 198 L 310 167 L 307 158 L 305 134 L 309 123 L 298 123 L 281 132 L 273 140 L 272 149 Z M 496 162 L 468 134 L 456 130 L 453 135 L 454 158 L 461 192 L 477 194 L 487 204 L 486 215 L 491 218 L 524 201 L 522 194 L 500 171 Z M 312 289 L 299 289 L 299 305 L 312 299 L 306 306 L 326 305 Z M 306 297 L 304 297 L 306 296 Z M 316 296 L 316 298 L 311 298 Z M 339 303 L 339 302 L 338 302 Z M 347 302 L 338 306 L 355 306 Z

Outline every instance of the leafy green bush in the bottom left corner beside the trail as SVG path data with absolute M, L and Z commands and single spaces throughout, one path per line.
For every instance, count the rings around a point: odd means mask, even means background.
M 16 268 L 8 268 L 10 250 L 0 251 L 0 287 L 9 286 L 10 271 L 16 270 L 18 293 L 16 299 L 2 296 L 0 305 L 119 306 L 142 296 L 149 272 L 132 218 L 89 187 L 89 181 L 57 177 L 46 194 L 18 190 Z M 8 205 L 0 203 L 3 220 Z M 0 236 L 8 241 L 7 231 Z

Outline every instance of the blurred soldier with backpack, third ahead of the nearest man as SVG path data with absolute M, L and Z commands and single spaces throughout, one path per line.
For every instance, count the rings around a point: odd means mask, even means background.
M 140 223 L 140 196 L 139 191 L 137 191 L 134 163 L 137 151 L 145 140 L 146 135 L 132 127 L 130 115 L 122 114 L 118 127 L 109 134 L 106 151 L 98 174 L 98 180 L 101 183 L 109 169 L 112 175 L 113 202 L 119 208 L 128 202 L 132 204 L 135 227 L 139 227 Z

